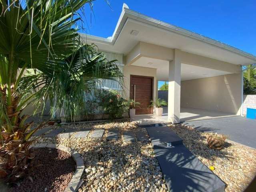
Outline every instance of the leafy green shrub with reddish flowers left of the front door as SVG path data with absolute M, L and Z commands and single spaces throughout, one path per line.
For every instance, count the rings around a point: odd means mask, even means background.
M 122 98 L 116 90 L 100 90 L 97 93 L 98 106 L 110 118 L 122 118 L 122 115 L 129 110 L 129 102 Z

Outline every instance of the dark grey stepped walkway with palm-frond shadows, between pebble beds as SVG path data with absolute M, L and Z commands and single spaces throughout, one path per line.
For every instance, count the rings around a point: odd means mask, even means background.
M 145 127 L 170 192 L 224 192 L 225 184 L 167 126 Z M 167 147 L 171 143 L 172 147 Z

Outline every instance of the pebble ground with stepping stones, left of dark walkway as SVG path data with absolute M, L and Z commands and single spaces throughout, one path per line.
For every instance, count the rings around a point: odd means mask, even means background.
M 48 126 L 48 125 L 46 125 Z M 52 126 L 57 128 L 57 126 Z M 142 130 L 131 122 L 101 122 L 70 124 L 64 128 L 105 129 L 102 139 L 86 138 L 41 138 L 39 142 L 62 144 L 82 154 L 85 164 L 84 183 L 79 192 L 167 192 L 158 161 L 149 142 L 124 142 L 124 130 Z M 118 140 L 107 141 L 108 130 L 120 130 Z

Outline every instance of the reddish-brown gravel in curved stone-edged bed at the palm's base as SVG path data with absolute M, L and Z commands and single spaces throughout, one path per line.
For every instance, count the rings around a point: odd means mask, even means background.
M 11 188 L 11 192 L 62 192 L 68 186 L 76 170 L 72 156 L 58 149 L 34 149 L 36 166 L 31 170 L 33 182 L 25 178 L 19 187 Z

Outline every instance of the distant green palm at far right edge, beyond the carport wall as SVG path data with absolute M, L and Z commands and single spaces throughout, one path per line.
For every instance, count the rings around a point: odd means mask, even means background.
M 247 65 L 244 70 L 244 94 L 256 94 L 256 65 Z

